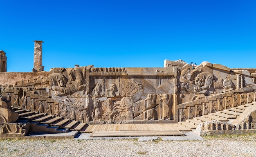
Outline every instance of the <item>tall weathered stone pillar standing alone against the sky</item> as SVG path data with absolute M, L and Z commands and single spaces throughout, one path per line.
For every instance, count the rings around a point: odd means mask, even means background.
M 43 41 L 34 40 L 34 68 L 33 72 L 44 71 L 44 66 L 42 65 L 42 43 Z

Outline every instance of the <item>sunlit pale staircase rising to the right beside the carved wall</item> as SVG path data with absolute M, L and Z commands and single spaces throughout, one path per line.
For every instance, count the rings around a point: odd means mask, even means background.
M 180 121 L 179 123 L 191 129 L 195 129 L 202 122 L 232 121 L 232 119 L 236 119 L 240 114 L 242 114 L 245 111 L 246 108 L 252 105 L 256 105 L 256 102 L 240 105 L 234 108 L 218 111 L 215 113 L 210 113 L 208 115 L 202 115 L 200 117 L 195 117 L 193 119 L 187 119 L 186 121 Z

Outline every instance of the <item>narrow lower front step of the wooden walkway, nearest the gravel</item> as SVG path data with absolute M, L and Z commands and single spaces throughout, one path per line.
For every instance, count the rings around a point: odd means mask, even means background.
M 122 137 L 122 136 L 183 136 L 179 130 L 168 131 L 95 131 L 92 137 Z

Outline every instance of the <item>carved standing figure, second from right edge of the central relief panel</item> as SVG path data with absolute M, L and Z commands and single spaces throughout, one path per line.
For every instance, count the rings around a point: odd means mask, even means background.
M 161 118 L 162 120 L 170 119 L 170 99 L 169 99 L 169 94 L 162 94 L 160 96 L 160 101 L 162 101 L 162 115 Z

